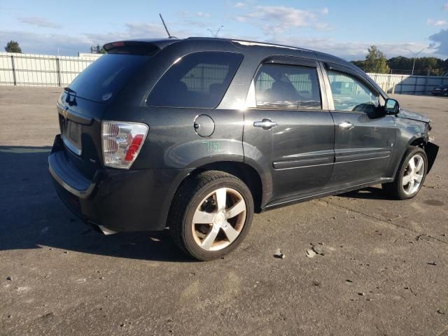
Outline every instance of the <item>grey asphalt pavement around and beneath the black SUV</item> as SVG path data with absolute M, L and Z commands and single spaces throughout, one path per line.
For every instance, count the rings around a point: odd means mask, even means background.
M 395 96 L 440 146 L 413 200 L 374 186 L 267 211 L 195 262 L 167 232 L 102 236 L 58 200 L 59 92 L 0 87 L 0 335 L 448 335 L 448 98 Z

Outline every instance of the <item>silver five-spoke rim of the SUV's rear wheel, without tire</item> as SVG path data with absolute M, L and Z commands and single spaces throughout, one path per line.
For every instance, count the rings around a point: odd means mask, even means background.
M 219 188 L 204 197 L 193 216 L 193 238 L 206 251 L 232 244 L 246 223 L 246 202 L 237 190 Z

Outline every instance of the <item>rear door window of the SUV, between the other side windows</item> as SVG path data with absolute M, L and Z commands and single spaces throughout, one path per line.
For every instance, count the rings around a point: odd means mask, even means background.
M 322 108 L 316 68 L 263 64 L 254 79 L 259 108 Z

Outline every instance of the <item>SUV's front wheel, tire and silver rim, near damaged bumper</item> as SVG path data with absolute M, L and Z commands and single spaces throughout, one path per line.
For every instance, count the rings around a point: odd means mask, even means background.
M 412 170 L 412 161 L 414 170 Z M 420 165 L 423 166 L 420 167 Z M 419 193 L 425 182 L 427 169 L 428 158 L 425 151 L 420 147 L 410 147 L 400 162 L 395 180 L 392 183 L 384 183 L 382 188 L 396 200 L 409 200 Z

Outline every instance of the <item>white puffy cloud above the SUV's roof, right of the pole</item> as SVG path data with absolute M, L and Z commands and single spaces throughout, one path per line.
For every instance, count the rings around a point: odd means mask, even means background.
M 314 27 L 325 29 L 328 27 L 318 21 L 319 15 L 328 14 L 328 8 L 323 10 L 302 10 L 286 6 L 257 6 L 255 10 L 236 18 L 239 22 L 251 22 L 269 36 L 283 34 L 292 28 Z

